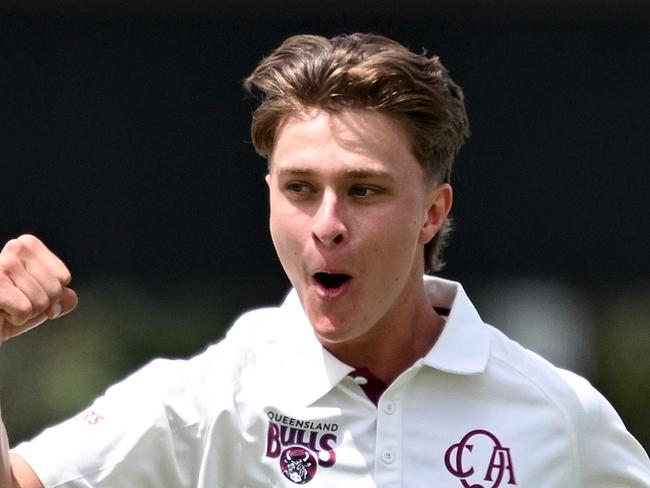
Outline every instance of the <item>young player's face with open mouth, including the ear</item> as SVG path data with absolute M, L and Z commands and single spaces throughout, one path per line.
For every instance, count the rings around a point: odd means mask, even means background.
M 291 115 L 267 183 L 273 243 L 325 347 L 408 320 L 451 188 L 426 182 L 396 121 L 367 110 Z

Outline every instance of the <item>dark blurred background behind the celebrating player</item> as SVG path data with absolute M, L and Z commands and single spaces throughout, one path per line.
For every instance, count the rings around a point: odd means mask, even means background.
M 40 236 L 82 300 L 3 347 L 12 437 L 281 299 L 241 82 L 288 35 L 370 31 L 440 55 L 466 93 L 442 275 L 647 448 L 649 27 L 625 0 L 4 2 L 0 239 Z

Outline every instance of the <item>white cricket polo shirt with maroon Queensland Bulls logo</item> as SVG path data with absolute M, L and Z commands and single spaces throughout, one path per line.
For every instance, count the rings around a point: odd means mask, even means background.
M 377 405 L 294 291 L 15 451 L 47 488 L 650 487 L 647 454 L 587 381 L 484 324 L 459 284 L 425 283 L 444 330 Z

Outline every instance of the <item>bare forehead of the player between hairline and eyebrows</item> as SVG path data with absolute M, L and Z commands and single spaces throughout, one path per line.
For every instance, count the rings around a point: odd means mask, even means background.
M 376 111 L 331 113 L 311 108 L 287 116 L 280 125 L 271 154 L 272 167 L 314 162 L 337 163 L 347 170 L 362 165 L 412 169 L 415 163 L 401 124 Z

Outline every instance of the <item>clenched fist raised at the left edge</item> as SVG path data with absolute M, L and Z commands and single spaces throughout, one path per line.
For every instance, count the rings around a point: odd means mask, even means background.
M 0 251 L 0 342 L 77 306 L 68 268 L 36 237 L 23 235 Z

